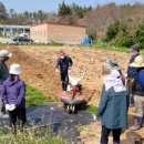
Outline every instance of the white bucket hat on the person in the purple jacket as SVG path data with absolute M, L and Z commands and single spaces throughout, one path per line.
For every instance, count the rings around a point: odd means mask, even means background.
M 20 75 L 22 73 L 22 69 L 21 69 L 20 64 L 10 65 L 10 72 L 9 73 Z

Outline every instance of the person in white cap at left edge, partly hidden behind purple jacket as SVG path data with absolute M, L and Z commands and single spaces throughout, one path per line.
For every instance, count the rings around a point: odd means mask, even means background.
M 6 62 L 9 60 L 9 58 L 12 56 L 12 53 L 10 53 L 8 50 L 1 50 L 0 51 L 0 117 L 9 117 L 8 114 L 6 114 L 6 107 L 3 105 L 3 102 L 1 101 L 1 89 L 3 82 L 9 76 L 9 70 L 7 68 Z

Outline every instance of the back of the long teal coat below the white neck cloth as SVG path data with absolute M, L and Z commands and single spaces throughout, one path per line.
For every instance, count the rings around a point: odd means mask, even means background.
M 102 124 L 107 128 L 122 128 L 127 126 L 127 92 L 115 92 L 114 88 L 104 90 L 107 99 L 106 107 L 102 115 Z

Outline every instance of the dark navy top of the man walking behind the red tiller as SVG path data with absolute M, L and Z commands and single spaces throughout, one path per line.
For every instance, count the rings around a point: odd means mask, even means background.
M 64 59 L 59 58 L 56 60 L 55 69 L 60 68 L 61 74 L 68 74 L 69 66 L 72 66 L 72 59 L 65 55 Z

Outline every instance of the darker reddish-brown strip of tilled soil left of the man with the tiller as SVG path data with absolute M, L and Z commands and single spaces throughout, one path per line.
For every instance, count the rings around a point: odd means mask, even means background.
M 56 96 L 61 92 L 59 76 L 50 64 L 33 59 L 17 47 L 7 47 L 7 49 L 13 53 L 8 64 L 21 64 L 23 70 L 21 78 L 25 83 L 38 88 L 50 96 Z

